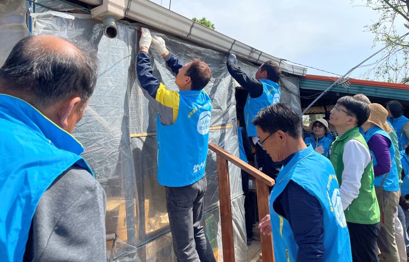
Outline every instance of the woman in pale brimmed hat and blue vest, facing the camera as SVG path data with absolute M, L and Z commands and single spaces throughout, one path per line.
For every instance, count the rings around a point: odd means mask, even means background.
M 332 140 L 327 137 L 328 122 L 324 118 L 320 118 L 310 123 L 310 131 L 312 136 L 306 137 L 305 144 L 311 144 L 315 152 L 329 158 L 329 146 Z

